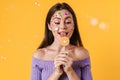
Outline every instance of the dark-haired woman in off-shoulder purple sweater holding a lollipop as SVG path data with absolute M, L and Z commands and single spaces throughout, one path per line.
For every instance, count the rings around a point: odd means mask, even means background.
M 62 46 L 67 37 L 70 43 Z M 50 8 L 45 37 L 33 55 L 31 80 L 92 80 L 90 57 L 83 47 L 76 16 L 66 3 Z

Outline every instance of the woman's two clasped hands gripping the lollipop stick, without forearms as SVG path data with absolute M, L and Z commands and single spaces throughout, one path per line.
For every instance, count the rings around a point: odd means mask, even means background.
M 73 58 L 68 52 L 60 52 L 54 59 L 55 69 L 62 74 L 72 70 Z

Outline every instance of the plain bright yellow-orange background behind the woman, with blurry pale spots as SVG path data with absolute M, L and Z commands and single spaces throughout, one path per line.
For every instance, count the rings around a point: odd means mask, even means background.
M 94 80 L 120 80 L 119 0 L 0 0 L 0 80 L 29 80 L 31 57 L 56 2 L 74 9 Z

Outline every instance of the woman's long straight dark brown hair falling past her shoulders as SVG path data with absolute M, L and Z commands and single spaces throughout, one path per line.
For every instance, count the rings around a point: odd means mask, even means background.
M 44 33 L 44 39 L 42 43 L 40 44 L 39 48 L 44 48 L 49 45 L 51 45 L 54 41 L 54 36 L 52 32 L 48 29 L 48 24 L 50 24 L 51 17 L 55 13 L 55 11 L 61 10 L 61 9 L 66 9 L 68 10 L 72 16 L 73 16 L 73 21 L 74 21 L 74 32 L 70 38 L 70 44 L 75 45 L 75 46 L 83 46 L 81 38 L 80 38 L 80 33 L 78 30 L 78 24 L 77 24 L 77 19 L 76 15 L 73 11 L 73 9 L 67 4 L 67 3 L 57 3 L 54 6 L 52 6 L 47 14 L 46 21 L 45 21 L 45 33 Z

